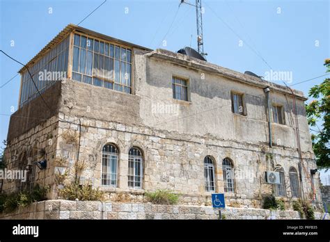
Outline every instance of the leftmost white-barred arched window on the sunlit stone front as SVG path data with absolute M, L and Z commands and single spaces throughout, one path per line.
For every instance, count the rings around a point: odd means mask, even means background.
M 104 145 L 102 150 L 102 186 L 117 186 L 118 149 L 114 145 Z

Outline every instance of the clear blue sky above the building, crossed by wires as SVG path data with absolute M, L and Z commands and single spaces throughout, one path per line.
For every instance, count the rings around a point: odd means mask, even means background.
M 0 0 L 0 49 L 26 63 L 67 24 L 79 23 L 102 2 Z M 188 5 L 178 9 L 179 2 L 108 0 L 81 26 L 150 49 L 196 48 L 195 9 Z M 330 57 L 329 4 L 327 0 L 203 0 L 207 61 L 264 76 L 269 66 L 262 56 L 274 71 L 291 72 L 290 84 L 325 74 L 324 59 Z M 162 40 L 166 40 L 166 47 Z M 0 55 L 0 86 L 20 68 Z M 308 95 L 308 90 L 323 79 L 293 88 Z M 16 76 L 0 89 L 1 114 L 10 115 L 17 110 L 19 81 Z M 6 139 L 8 115 L 0 115 L 0 140 Z

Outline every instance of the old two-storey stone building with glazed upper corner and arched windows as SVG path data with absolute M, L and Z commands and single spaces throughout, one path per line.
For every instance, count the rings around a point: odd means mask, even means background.
M 260 208 L 269 194 L 322 201 L 298 90 L 72 24 L 26 66 L 40 95 L 22 68 L 5 156 L 28 180 L 3 191 L 49 185 L 57 199 L 58 174 L 72 179 L 81 162 L 80 182 L 109 200 L 169 189 L 185 204 L 210 204 L 211 193 L 231 207 Z

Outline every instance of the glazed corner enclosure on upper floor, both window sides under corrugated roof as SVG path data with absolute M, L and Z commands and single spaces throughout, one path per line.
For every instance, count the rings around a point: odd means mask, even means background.
M 132 49 L 84 33 L 68 35 L 30 65 L 29 71 L 40 93 L 68 77 L 93 86 L 132 93 Z M 22 71 L 19 107 L 39 95 L 31 76 L 26 69 Z

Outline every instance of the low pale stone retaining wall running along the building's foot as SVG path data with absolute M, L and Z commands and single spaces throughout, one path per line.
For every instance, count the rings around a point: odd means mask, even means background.
M 226 219 L 300 219 L 297 211 L 270 211 L 227 207 Z M 315 213 L 315 219 L 324 214 Z M 76 202 L 47 200 L 2 213 L 0 219 L 218 219 L 218 211 L 207 206 L 155 205 L 123 202 Z M 329 213 L 327 214 L 329 219 Z

